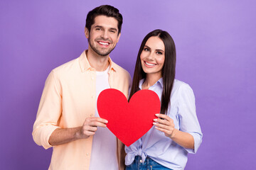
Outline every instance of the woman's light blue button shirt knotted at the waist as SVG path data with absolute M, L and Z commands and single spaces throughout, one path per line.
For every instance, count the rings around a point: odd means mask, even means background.
M 144 79 L 139 81 L 139 88 L 142 89 Z M 161 99 L 163 91 L 163 79 L 159 79 L 149 90 L 156 92 Z M 129 147 L 125 147 L 127 156 L 125 164 L 132 164 L 134 157 L 139 155 L 142 161 L 149 157 L 155 162 L 166 166 L 169 169 L 184 169 L 188 160 L 188 153 L 196 153 L 201 145 L 203 134 L 201 132 L 198 118 L 196 117 L 195 96 L 191 87 L 178 80 L 174 80 L 171 91 L 171 106 L 167 115 L 174 120 L 175 128 L 188 132 L 193 136 L 194 149 L 181 147 L 171 138 L 166 137 L 164 132 L 156 130 L 153 126 L 144 136 Z

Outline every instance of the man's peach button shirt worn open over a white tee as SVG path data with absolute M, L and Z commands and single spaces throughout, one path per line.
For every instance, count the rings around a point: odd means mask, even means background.
M 110 58 L 109 62 L 110 87 L 128 96 L 131 83 L 129 73 Z M 90 66 L 85 51 L 77 59 L 50 72 L 33 125 L 32 135 L 36 144 L 48 149 L 52 147 L 48 140 L 55 129 L 79 127 L 85 118 L 95 116 L 95 80 L 96 71 Z M 87 139 L 54 146 L 49 169 L 89 169 L 92 138 L 90 136 Z M 119 140 L 117 159 L 119 169 L 124 169 L 124 145 Z

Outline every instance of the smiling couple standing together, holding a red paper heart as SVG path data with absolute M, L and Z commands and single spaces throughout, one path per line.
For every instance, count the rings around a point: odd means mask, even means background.
M 48 75 L 32 135 L 38 145 L 53 147 L 49 169 L 184 169 L 187 154 L 201 144 L 193 91 L 174 79 L 176 49 L 171 35 L 163 30 L 146 35 L 128 97 L 129 73 L 110 59 L 121 27 L 117 8 L 93 9 L 85 25 L 88 50 Z M 109 88 L 127 98 L 149 89 L 161 99 L 154 126 L 129 147 L 117 140 L 97 113 L 97 96 Z

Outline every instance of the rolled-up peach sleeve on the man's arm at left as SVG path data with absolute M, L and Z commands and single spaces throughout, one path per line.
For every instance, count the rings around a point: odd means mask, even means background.
M 55 78 L 55 72 L 50 72 L 46 79 L 36 121 L 33 125 L 33 140 L 45 149 L 52 147 L 48 141 L 53 131 L 59 128 L 58 120 L 62 113 L 62 95 L 58 82 Z

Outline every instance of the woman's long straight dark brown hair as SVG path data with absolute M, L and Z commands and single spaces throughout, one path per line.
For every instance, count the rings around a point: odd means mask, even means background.
M 146 79 L 146 73 L 142 69 L 140 55 L 142 54 L 142 50 L 144 49 L 146 41 L 153 36 L 159 37 L 164 42 L 165 47 L 164 66 L 161 70 L 161 74 L 163 77 L 163 92 L 161 95 L 160 113 L 166 114 L 169 108 L 169 103 L 171 101 L 171 89 L 174 86 L 176 69 L 176 48 L 173 38 L 171 38 L 171 35 L 169 35 L 169 33 L 164 30 L 153 30 L 148 33 L 146 37 L 142 40 L 142 45 L 140 46 L 137 55 L 137 62 L 134 69 L 134 77 L 132 80 L 132 89 L 129 94 L 129 100 L 131 99 L 133 94 L 139 91 L 139 81 L 141 79 Z

